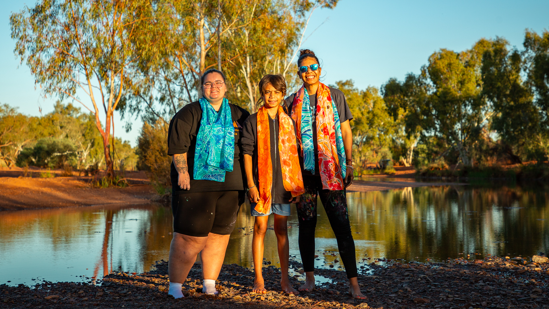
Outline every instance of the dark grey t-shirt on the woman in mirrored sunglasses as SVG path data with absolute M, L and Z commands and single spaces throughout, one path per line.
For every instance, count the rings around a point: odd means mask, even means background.
M 352 119 L 351 109 L 349 108 L 349 104 L 347 104 L 347 100 L 345 98 L 345 95 L 341 90 L 337 88 L 328 87 L 330 89 L 330 95 L 332 95 L 332 100 L 334 100 L 335 108 L 338 110 L 339 115 L 339 122 L 344 123 L 347 120 Z M 292 114 L 292 103 L 294 102 L 296 93 L 292 93 L 289 97 L 285 98 L 284 101 L 286 103 L 286 111 L 289 115 Z M 316 93 L 314 95 L 309 95 L 309 102 L 310 102 L 310 108 L 311 108 L 311 115 L 314 115 L 316 113 Z M 312 121 L 312 139 L 313 139 L 313 147 L 315 148 L 315 175 L 320 175 L 320 172 L 318 171 L 318 142 L 316 137 L 316 117 L 311 117 Z M 299 133 L 298 133 L 299 134 Z M 302 159 L 302 158 L 300 158 Z M 312 175 L 311 172 L 308 170 L 304 170 L 304 175 Z

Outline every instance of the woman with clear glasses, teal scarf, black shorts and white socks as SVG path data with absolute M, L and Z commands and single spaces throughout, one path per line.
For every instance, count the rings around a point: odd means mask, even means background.
M 203 97 L 180 109 L 168 130 L 174 232 L 168 294 L 175 298 L 184 297 L 182 284 L 199 252 L 202 291 L 217 294 L 215 280 L 244 196 L 240 129 L 249 113 L 224 97 L 221 71 L 209 69 L 200 81 Z

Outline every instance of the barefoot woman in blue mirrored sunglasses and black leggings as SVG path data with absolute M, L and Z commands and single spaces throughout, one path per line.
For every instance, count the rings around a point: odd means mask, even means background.
M 345 188 L 354 179 L 351 111 L 343 92 L 320 82 L 322 69 L 310 49 L 300 50 L 297 73 L 303 85 L 285 102 L 298 131 L 305 186 L 305 193 L 296 204 L 299 251 L 305 271 L 305 284 L 299 290 L 315 289 L 315 229 L 317 197 L 320 196 L 349 278 L 349 294 L 356 299 L 366 299 L 357 282 L 355 242 L 345 196 Z

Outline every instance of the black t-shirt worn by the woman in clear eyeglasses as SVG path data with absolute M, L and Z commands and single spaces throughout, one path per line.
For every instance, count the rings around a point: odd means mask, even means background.
M 240 131 L 244 120 L 248 118 L 250 113 L 245 109 L 234 104 L 229 104 L 231 107 L 231 116 L 234 126 L 234 164 L 232 172 L 225 172 L 225 182 L 215 180 L 195 180 L 194 172 L 194 152 L 197 144 L 198 130 L 200 129 L 200 120 L 202 119 L 202 109 L 200 103 L 189 103 L 173 116 L 168 129 L 168 154 L 187 153 L 187 165 L 189 168 L 189 176 L 191 178 L 191 190 L 183 190 L 177 185 L 178 173 L 173 161 L 170 169 L 172 194 L 185 194 L 195 192 L 211 192 L 211 191 L 233 191 L 244 190 L 243 174 L 244 162 L 240 157 L 242 146 L 240 143 Z

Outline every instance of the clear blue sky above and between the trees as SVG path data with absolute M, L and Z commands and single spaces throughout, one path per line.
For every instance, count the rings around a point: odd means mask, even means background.
M 53 110 L 55 98 L 43 98 L 25 64 L 13 54 L 9 15 L 34 2 L 0 3 L 0 103 L 40 115 Z M 440 48 L 462 51 L 480 38 L 505 37 L 522 48 L 524 30 L 549 29 L 549 1 L 357 1 L 340 0 L 333 10 L 313 13 L 302 47 L 322 61 L 324 82 L 352 79 L 355 86 L 379 87 L 389 78 L 418 73 Z M 19 68 L 18 68 L 19 67 Z M 68 101 L 65 101 L 68 102 Z M 116 117 L 118 119 L 119 117 Z M 115 135 L 136 145 L 141 121 L 125 133 L 115 121 Z

